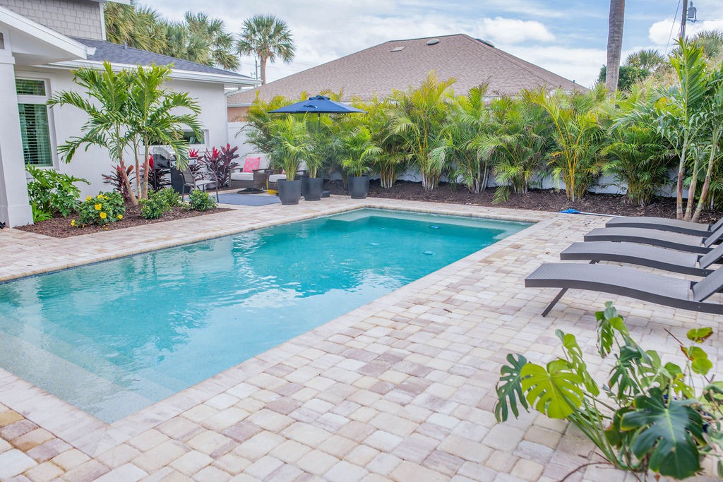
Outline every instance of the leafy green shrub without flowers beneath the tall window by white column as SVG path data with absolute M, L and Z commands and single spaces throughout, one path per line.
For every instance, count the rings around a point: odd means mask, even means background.
M 59 212 L 66 217 L 75 210 L 80 197 L 77 182 L 90 184 L 85 179 L 61 174 L 53 169 L 26 167 L 33 180 L 27 183 L 27 196 L 33 207 L 33 220 L 46 220 Z

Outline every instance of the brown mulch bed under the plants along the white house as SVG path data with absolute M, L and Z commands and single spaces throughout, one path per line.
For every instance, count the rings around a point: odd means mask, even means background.
M 33 225 L 20 226 L 16 229 L 27 231 L 28 233 L 44 234 L 54 238 L 69 238 L 70 236 L 80 236 L 81 234 L 100 233 L 101 231 L 115 231 L 116 229 L 130 228 L 132 226 L 140 226 L 145 224 L 163 223 L 163 221 L 173 221 L 176 219 L 195 218 L 215 212 L 230 211 L 226 208 L 216 207 L 215 209 L 200 212 L 184 209 L 183 207 L 174 207 L 170 212 L 166 212 L 162 218 L 143 219 L 140 215 L 140 207 L 126 205 L 126 213 L 123 219 L 115 223 L 109 223 L 105 226 L 87 225 L 85 228 L 74 228 L 70 225 L 72 219 L 76 219 L 72 215 L 67 218 L 57 217 L 35 223 Z

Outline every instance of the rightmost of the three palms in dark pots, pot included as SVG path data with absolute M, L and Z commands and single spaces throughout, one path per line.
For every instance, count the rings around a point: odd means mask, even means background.
M 372 163 L 381 155 L 382 148 L 372 139 L 372 132 L 366 126 L 359 126 L 346 134 L 341 141 L 343 158 L 341 165 L 349 174 L 351 199 L 365 199 L 369 194 L 369 176 Z

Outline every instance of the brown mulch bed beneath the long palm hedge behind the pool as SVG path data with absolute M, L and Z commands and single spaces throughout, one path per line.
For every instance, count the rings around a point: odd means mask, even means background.
M 332 181 L 325 186 L 331 194 L 348 195 L 341 181 Z M 510 194 L 510 199 L 502 204 L 492 204 L 495 188 L 474 194 L 464 186 L 442 183 L 432 191 L 422 189 L 422 183 L 397 181 L 391 189 L 382 189 L 379 181 L 369 183 L 369 197 L 386 199 L 408 199 L 410 201 L 445 202 L 458 205 L 479 205 L 490 207 L 508 207 L 512 209 L 553 211 L 575 209 L 581 212 L 596 212 L 617 216 L 659 216 L 675 218 L 675 198 L 656 197 L 646 207 L 633 206 L 625 202 L 620 194 L 586 194 L 583 199 L 570 202 L 565 191 L 555 189 L 533 189 L 527 194 Z M 699 222 L 714 223 L 723 212 L 703 212 Z

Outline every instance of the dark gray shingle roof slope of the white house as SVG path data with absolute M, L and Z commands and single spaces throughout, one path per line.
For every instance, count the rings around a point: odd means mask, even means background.
M 206 74 L 233 75 L 234 77 L 239 77 L 239 79 L 254 80 L 252 79 L 252 77 L 236 74 L 236 72 L 229 72 L 228 70 L 217 69 L 208 65 L 196 64 L 195 62 L 189 62 L 183 59 L 176 59 L 175 57 L 140 50 L 139 48 L 124 47 L 117 43 L 78 37 L 73 37 L 73 40 L 76 40 L 77 42 L 80 42 L 85 46 L 95 48 L 95 53 L 93 53 L 93 55 L 87 56 L 88 60 L 109 61 L 111 62 L 111 64 L 116 62 L 118 64 L 131 65 L 173 64 L 173 68 L 179 70 L 187 70 L 190 72 L 204 72 Z

